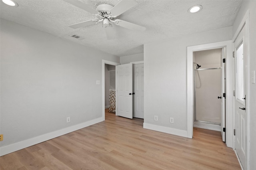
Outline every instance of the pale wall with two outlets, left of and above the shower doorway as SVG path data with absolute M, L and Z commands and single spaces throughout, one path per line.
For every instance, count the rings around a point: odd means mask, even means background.
M 186 136 L 187 47 L 231 39 L 227 27 L 144 45 L 144 127 Z

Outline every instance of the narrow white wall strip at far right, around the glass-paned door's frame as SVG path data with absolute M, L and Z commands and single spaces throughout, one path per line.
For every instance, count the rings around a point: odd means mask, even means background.
M 236 17 L 233 25 L 233 36 L 238 26 L 242 21 L 242 18 L 246 14 L 246 11 L 250 10 L 250 77 L 252 77 L 252 71 L 256 70 L 256 1 L 246 0 L 243 1 L 240 11 Z M 250 82 L 250 170 L 256 169 L 256 84 Z M 246 97 L 247 98 L 247 97 Z M 249 168 L 248 168 L 249 169 Z

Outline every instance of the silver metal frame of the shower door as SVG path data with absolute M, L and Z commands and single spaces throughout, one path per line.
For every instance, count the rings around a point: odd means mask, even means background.
M 213 70 L 213 69 L 221 69 L 221 67 L 205 68 L 205 69 L 194 69 L 194 121 L 195 122 L 200 122 L 200 123 L 208 123 L 208 124 L 213 124 L 213 125 L 220 125 L 221 123 L 196 120 L 196 71 Z

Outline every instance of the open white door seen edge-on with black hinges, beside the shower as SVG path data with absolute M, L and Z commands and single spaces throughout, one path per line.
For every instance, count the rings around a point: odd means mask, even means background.
M 222 94 L 222 98 L 221 98 L 221 115 L 220 115 L 220 119 L 221 119 L 221 136 L 222 136 L 222 141 L 225 142 L 226 141 L 226 107 L 225 107 L 225 103 L 226 103 L 226 97 L 223 96 L 223 93 L 226 93 L 226 63 L 223 62 L 223 59 L 226 58 L 225 57 L 225 48 L 222 48 L 222 61 L 220 62 L 220 68 L 221 68 L 221 94 Z M 225 130 L 224 130 L 225 128 Z

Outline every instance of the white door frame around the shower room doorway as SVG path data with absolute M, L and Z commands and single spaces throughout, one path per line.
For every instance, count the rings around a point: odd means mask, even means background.
M 233 77 L 232 77 L 232 41 L 208 43 L 187 47 L 187 137 L 193 137 L 193 52 L 207 49 L 226 48 L 226 145 L 233 148 L 233 120 L 232 119 L 232 95 L 233 95 Z M 230 121 L 227 121 L 230 120 Z

